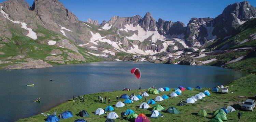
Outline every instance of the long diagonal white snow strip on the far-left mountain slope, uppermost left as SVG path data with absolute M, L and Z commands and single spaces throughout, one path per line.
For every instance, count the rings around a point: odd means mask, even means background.
M 1 6 L 1 13 L 3 14 L 3 16 L 4 16 L 6 19 L 12 21 L 12 22 L 15 23 L 15 24 L 21 24 L 21 25 L 22 25 L 21 28 L 24 28 L 24 29 L 28 30 L 28 34 L 27 34 L 26 36 L 28 36 L 29 38 L 31 38 L 31 39 L 33 39 L 33 40 L 36 40 L 36 39 L 37 39 L 37 33 L 33 32 L 33 30 L 32 30 L 31 28 L 28 28 L 26 23 L 20 22 L 20 21 L 13 21 L 13 20 L 11 20 L 11 19 L 8 17 L 8 14 L 6 14 L 6 13 L 3 11 L 3 6 Z

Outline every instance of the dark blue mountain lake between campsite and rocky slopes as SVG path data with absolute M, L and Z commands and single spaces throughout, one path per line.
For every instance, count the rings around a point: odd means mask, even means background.
M 136 79 L 130 72 L 141 70 Z M 105 61 L 51 68 L 0 70 L 0 120 L 16 121 L 43 113 L 72 99 L 73 95 L 159 87 L 214 87 L 247 75 L 215 66 L 154 64 L 150 62 Z M 52 81 L 49 81 L 52 79 Z M 28 83 L 34 86 L 26 86 Z M 41 103 L 34 102 L 41 98 Z

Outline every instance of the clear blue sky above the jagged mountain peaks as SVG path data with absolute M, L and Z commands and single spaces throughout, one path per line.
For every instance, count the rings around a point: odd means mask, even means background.
M 3 2 L 5 0 L 0 0 Z M 26 0 L 32 5 L 34 0 Z M 101 23 L 109 21 L 113 16 L 143 17 L 150 12 L 158 21 L 162 18 L 168 21 L 188 23 L 192 17 L 215 18 L 224 8 L 243 0 L 59 0 L 69 11 L 73 12 L 81 21 L 88 18 L 97 19 Z M 256 0 L 248 0 L 256 6 Z

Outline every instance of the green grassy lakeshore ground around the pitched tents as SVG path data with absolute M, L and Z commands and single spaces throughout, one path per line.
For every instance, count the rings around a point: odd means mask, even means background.
M 177 108 L 177 110 L 180 111 L 181 114 L 168 114 L 165 113 L 165 111 L 161 111 L 161 114 L 163 114 L 165 117 L 158 117 L 158 118 L 150 118 L 151 122 L 207 122 L 209 121 L 213 116 L 211 115 L 217 108 L 221 108 L 224 105 L 233 105 L 234 103 L 239 103 L 242 101 L 245 101 L 248 98 L 254 97 L 256 95 L 256 74 L 247 75 L 243 78 L 240 78 L 238 80 L 232 81 L 229 84 L 225 85 L 229 86 L 229 93 L 228 94 L 221 94 L 221 93 L 212 93 L 212 88 L 203 88 L 202 90 L 185 90 L 182 91 L 182 95 L 179 97 L 169 97 L 167 100 L 163 100 L 161 102 L 156 102 L 156 104 L 162 105 L 165 110 L 168 107 L 174 106 Z M 162 86 L 165 87 L 165 86 Z M 169 86 L 171 87 L 171 86 Z M 77 101 L 73 102 L 72 100 L 68 100 L 66 103 L 62 103 L 55 108 L 46 111 L 45 113 L 53 114 L 54 110 L 58 113 L 62 113 L 63 111 L 72 111 L 74 117 L 69 119 L 62 119 L 61 122 L 73 122 L 76 119 L 82 119 L 82 117 L 77 117 L 75 114 L 78 114 L 80 110 L 87 110 L 89 113 L 89 117 L 83 118 L 88 122 L 104 122 L 106 120 L 106 114 L 98 116 L 94 115 L 94 111 L 97 108 L 103 108 L 105 109 L 106 106 L 111 105 L 114 107 L 116 103 L 116 96 L 121 96 L 122 94 L 131 95 L 134 93 L 135 95 L 140 94 L 141 92 L 145 91 L 146 89 L 142 90 L 131 90 L 131 91 L 113 91 L 113 92 L 106 92 L 106 93 L 95 93 L 90 95 L 84 95 L 85 102 Z M 179 101 L 185 101 L 187 98 L 194 96 L 200 92 L 203 92 L 204 90 L 209 90 L 211 93 L 211 96 L 204 97 L 201 100 L 196 101 L 194 104 L 186 104 L 185 106 L 178 106 L 177 103 Z M 174 88 L 171 88 L 171 91 L 164 91 L 160 92 L 160 94 L 152 95 L 149 94 L 150 97 L 147 97 L 147 100 L 149 99 L 155 99 L 157 96 L 162 96 L 164 94 L 170 95 L 171 92 L 174 91 Z M 233 93 L 231 93 L 233 91 Z M 248 94 L 249 92 L 252 92 L 252 94 Z M 110 98 L 112 101 L 110 104 L 104 104 L 99 103 L 98 101 L 98 95 L 100 96 L 107 96 L 108 99 Z M 238 97 L 238 96 L 244 96 Z M 254 99 L 254 98 L 251 98 Z M 104 100 L 103 100 L 104 101 Z M 124 102 L 124 99 L 119 99 L 119 101 Z M 43 98 L 42 98 L 42 101 Z M 120 113 L 121 111 L 126 111 L 127 109 L 132 109 L 136 114 L 143 113 L 147 117 L 151 114 L 151 109 L 154 105 L 150 105 L 151 107 L 149 109 L 140 109 L 139 105 L 144 102 L 144 98 L 140 99 L 139 101 L 134 101 L 132 104 L 125 104 L 124 107 L 114 107 L 114 111 L 117 113 L 119 118 L 121 118 Z M 241 103 L 239 103 L 241 105 Z M 207 111 L 206 117 L 199 117 L 196 116 L 198 111 L 200 109 L 205 109 Z M 233 111 L 229 114 L 227 114 L 227 119 L 230 122 L 238 121 L 237 118 L 238 110 Z M 18 122 L 40 122 L 44 121 L 46 119 L 46 116 L 43 115 L 35 115 L 29 118 L 25 118 L 22 120 L 18 120 Z M 128 120 L 121 120 L 121 119 L 115 119 L 116 122 L 127 122 Z M 124 117 L 126 119 L 126 116 Z M 251 122 L 256 120 L 256 109 L 252 111 L 242 111 L 242 122 Z

